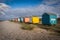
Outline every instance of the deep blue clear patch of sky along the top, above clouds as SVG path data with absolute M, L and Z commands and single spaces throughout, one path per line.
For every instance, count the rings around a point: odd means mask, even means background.
M 1 0 L 1 2 L 10 5 L 13 8 L 16 7 L 28 7 L 40 5 L 43 0 Z

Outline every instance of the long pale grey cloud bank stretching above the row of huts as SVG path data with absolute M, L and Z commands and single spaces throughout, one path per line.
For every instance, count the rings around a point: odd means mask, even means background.
M 58 9 L 44 4 L 31 8 L 16 8 L 12 9 L 10 12 L 15 16 L 42 15 L 44 12 L 59 14 Z

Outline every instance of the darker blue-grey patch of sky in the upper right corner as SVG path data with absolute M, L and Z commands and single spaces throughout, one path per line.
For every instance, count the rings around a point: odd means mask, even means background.
M 60 11 L 60 0 L 44 0 L 43 4 L 53 6 Z

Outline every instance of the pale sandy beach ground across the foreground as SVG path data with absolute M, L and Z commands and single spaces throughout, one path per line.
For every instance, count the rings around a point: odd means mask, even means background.
M 49 35 L 44 29 L 33 31 L 20 29 L 22 25 L 14 22 L 0 22 L 0 40 L 60 40 L 60 36 Z

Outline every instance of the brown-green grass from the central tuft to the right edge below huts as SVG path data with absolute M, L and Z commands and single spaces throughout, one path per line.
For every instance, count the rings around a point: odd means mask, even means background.
M 60 25 L 42 25 L 42 24 L 25 24 L 22 23 L 22 29 L 33 30 L 34 27 L 39 27 L 48 31 L 50 35 L 60 36 Z M 35 26 L 34 26 L 35 25 Z

